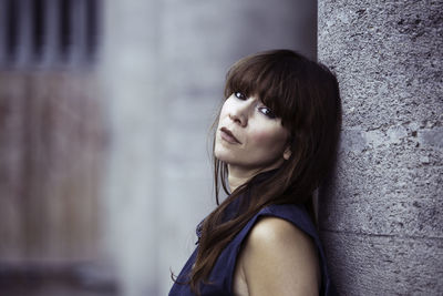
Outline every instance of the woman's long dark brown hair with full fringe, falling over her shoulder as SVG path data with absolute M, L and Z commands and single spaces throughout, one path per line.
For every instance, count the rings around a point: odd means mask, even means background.
M 261 208 L 271 204 L 305 204 L 313 218 L 312 193 L 333 165 L 341 125 L 341 102 L 336 76 L 322 64 L 290 50 L 274 50 L 246 57 L 226 75 L 225 100 L 234 92 L 259 98 L 290 131 L 289 160 L 265 181 L 253 177 L 219 203 L 219 187 L 228 193 L 226 163 L 214 156 L 214 181 L 218 206 L 205 218 L 189 275 L 199 294 L 226 245 Z M 218 120 L 218 119 L 217 119 Z M 216 124 L 214 124 L 216 126 Z M 228 221 L 226 208 L 249 191 L 251 202 Z

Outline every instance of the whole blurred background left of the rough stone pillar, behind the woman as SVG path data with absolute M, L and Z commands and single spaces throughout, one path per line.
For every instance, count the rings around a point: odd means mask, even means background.
M 316 42 L 310 0 L 0 0 L 0 295 L 166 295 L 226 71 Z

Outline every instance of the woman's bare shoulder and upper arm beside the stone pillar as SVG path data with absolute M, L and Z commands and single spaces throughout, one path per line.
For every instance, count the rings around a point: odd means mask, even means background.
M 260 218 L 241 249 L 249 295 L 318 295 L 320 268 L 309 235 L 278 217 Z

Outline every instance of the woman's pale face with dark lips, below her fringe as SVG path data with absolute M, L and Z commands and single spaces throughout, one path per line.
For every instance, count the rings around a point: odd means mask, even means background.
M 233 93 L 223 104 L 215 156 L 230 169 L 264 172 L 289 159 L 289 132 L 258 98 Z

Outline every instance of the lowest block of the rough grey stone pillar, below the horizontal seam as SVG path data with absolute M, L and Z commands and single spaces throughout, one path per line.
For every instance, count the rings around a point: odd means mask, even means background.
M 441 295 L 443 239 L 321 234 L 340 295 Z

